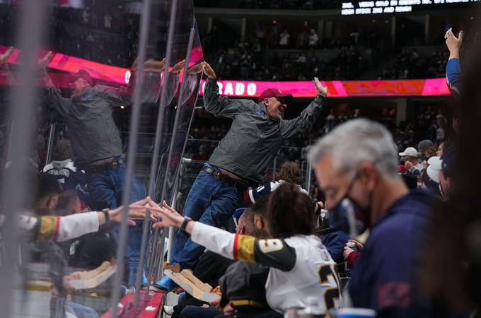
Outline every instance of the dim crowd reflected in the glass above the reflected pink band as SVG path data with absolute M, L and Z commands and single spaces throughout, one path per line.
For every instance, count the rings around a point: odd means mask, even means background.
M 0 6 L 2 43 L 11 42 L 11 26 L 18 10 Z M 139 37 L 139 14 L 126 6 L 93 1 L 86 8 L 52 6 L 47 21 L 50 44 L 54 52 L 82 57 L 99 63 L 129 67 L 136 58 Z

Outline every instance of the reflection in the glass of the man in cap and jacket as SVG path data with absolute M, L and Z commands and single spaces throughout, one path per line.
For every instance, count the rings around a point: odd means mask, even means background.
M 116 208 L 121 204 L 125 187 L 126 156 L 123 153 L 120 131 L 117 129 L 112 109 L 114 107 L 129 107 L 132 104 L 132 86 L 115 88 L 105 85 L 95 85 L 91 74 L 85 69 L 79 69 L 70 74 L 71 96 L 66 98 L 54 86 L 50 76 L 45 71 L 52 59 L 52 52 L 40 60 L 42 67 L 42 82 L 46 86 L 46 98 L 50 105 L 64 117 L 69 138 L 74 152 L 74 162 L 79 169 L 84 170 L 88 179 L 90 193 L 89 206 L 96 211 L 103 208 Z M 141 102 L 155 101 L 160 92 L 158 86 L 163 61 L 149 60 L 144 64 L 141 91 L 144 92 Z M 137 64 L 132 68 L 134 78 Z M 136 81 L 131 81 L 135 83 Z M 132 181 L 130 202 L 137 201 L 146 195 L 144 186 Z M 124 283 L 133 286 L 139 264 L 142 221 L 129 228 L 125 248 L 124 264 L 126 275 Z M 119 239 L 120 227 L 113 227 L 110 235 L 116 242 Z M 144 269 L 145 271 L 145 269 Z M 143 275 L 142 283 L 146 283 Z

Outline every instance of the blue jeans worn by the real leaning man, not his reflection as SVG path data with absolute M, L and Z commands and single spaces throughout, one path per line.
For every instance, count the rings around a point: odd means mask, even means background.
M 204 166 L 219 170 L 209 163 Z M 232 217 L 241 195 L 242 189 L 238 190 L 201 170 L 190 188 L 182 215 L 219 228 Z M 173 240 L 169 263 L 180 264 L 181 269 L 193 269 L 202 252 L 203 246 L 192 242 L 187 232 L 179 230 Z M 161 281 L 158 284 L 167 289 L 171 287 Z

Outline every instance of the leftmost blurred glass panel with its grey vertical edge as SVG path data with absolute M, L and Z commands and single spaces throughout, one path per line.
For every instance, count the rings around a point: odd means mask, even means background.
M 4 145 L 1 153 L 0 198 L 0 316 L 12 317 L 21 310 L 25 298 L 23 286 L 33 271 L 28 271 L 30 259 L 30 224 L 27 216 L 35 205 L 37 155 L 37 90 L 35 77 L 37 52 L 45 39 L 47 20 L 45 1 L 25 1 L 24 6 L 1 4 L 1 42 L 8 45 L 0 58 L 1 64 L 1 127 Z M 33 29 L 32 29 L 33 28 Z M 21 54 L 20 54 L 21 52 Z M 11 67 L 13 59 L 23 67 Z M 20 300 L 20 301 L 19 301 Z M 25 305 L 23 305 L 25 306 Z M 26 307 L 26 306 L 25 306 Z

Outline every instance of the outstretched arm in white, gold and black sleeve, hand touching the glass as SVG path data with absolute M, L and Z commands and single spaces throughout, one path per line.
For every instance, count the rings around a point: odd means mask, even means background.
M 193 242 L 202 245 L 212 252 L 221 254 L 229 259 L 251 261 L 264 266 L 274 267 L 282 271 L 290 271 L 296 264 L 296 250 L 286 244 L 284 240 L 259 240 L 250 235 L 236 235 L 214 226 L 195 222 L 180 216 L 166 202 L 163 207 L 149 201 L 151 211 L 161 216 L 161 222 L 155 223 L 154 228 L 177 226 L 191 234 Z

